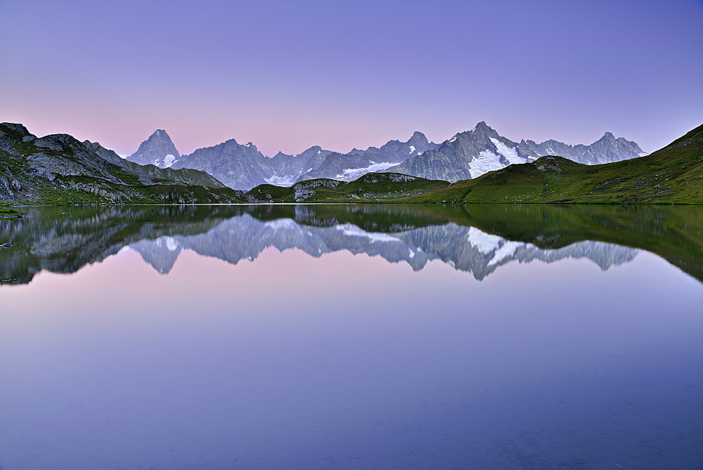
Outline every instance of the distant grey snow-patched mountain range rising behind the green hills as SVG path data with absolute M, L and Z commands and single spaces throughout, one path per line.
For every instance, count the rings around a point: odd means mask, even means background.
M 278 152 L 266 157 L 256 145 L 235 139 L 179 155 L 163 129 L 155 131 L 127 157 L 139 164 L 160 168 L 191 168 L 206 171 L 236 190 L 257 185 L 290 186 L 299 181 L 330 178 L 353 181 L 371 172 L 392 171 L 427 179 L 455 181 L 477 178 L 510 164 L 534 162 L 544 155 L 560 155 L 583 164 L 619 162 L 647 155 L 632 141 L 607 132 L 591 145 L 567 145 L 550 140 L 515 143 L 500 136 L 485 122 L 471 131 L 457 133 L 442 143 L 432 143 L 421 132 L 408 141 L 389 141 L 380 148 L 354 148 L 342 154 L 314 146 L 299 155 Z

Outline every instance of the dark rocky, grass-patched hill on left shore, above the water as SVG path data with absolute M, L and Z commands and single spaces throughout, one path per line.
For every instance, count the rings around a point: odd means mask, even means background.
M 120 158 L 67 134 L 37 138 L 0 124 L 0 202 L 13 204 L 242 202 L 204 171 L 161 169 Z

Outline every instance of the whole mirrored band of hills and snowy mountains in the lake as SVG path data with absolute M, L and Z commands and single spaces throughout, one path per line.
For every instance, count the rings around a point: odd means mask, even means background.
M 67 213 L 66 213 L 67 212 Z M 0 284 L 73 273 L 129 246 L 159 273 L 184 249 L 228 263 L 266 248 L 441 261 L 482 280 L 511 261 L 588 259 L 605 270 L 648 250 L 703 280 L 703 208 L 549 204 L 258 204 L 32 208 L 0 223 Z

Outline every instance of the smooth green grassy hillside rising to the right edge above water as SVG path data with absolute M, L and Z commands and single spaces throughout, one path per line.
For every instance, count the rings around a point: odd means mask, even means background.
M 541 157 L 404 200 L 703 204 L 703 126 L 645 157 L 602 165 Z

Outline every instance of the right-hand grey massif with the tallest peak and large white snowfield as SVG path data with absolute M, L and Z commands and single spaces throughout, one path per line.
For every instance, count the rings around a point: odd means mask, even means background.
M 639 145 L 605 133 L 591 145 L 567 145 L 557 141 L 515 143 L 479 122 L 475 129 L 456 134 L 436 150 L 424 152 L 386 171 L 443 179 L 451 183 L 476 178 L 510 164 L 534 162 L 544 155 L 558 155 L 583 164 L 619 162 L 645 155 Z

